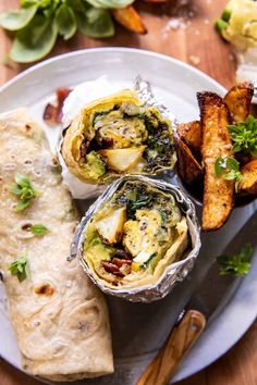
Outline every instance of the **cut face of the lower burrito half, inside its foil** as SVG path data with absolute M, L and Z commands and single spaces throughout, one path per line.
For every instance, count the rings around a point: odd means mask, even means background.
M 171 194 L 127 181 L 87 223 L 83 256 L 109 287 L 147 285 L 182 257 L 187 233 Z

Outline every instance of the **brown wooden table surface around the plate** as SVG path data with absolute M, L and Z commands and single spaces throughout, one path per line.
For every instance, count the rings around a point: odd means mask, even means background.
M 234 82 L 235 74 L 233 54 L 230 46 L 221 41 L 212 27 L 213 21 L 220 15 L 225 3 L 227 0 L 171 0 L 166 5 L 150 5 L 138 0 L 137 8 L 140 10 L 148 27 L 147 35 L 136 36 L 119 27 L 117 28 L 117 36 L 106 40 L 93 40 L 84 36 L 76 36 L 68 42 L 59 40 L 52 54 L 88 47 L 124 46 L 142 48 L 188 62 L 225 87 L 230 87 Z M 19 0 L 1 0 L 0 12 L 15 8 Z M 174 28 L 174 23 L 169 26 L 168 22 L 172 17 L 185 17 L 185 15 L 187 21 L 180 24 L 178 28 Z M 2 30 L 0 30 L 0 61 L 2 63 L 2 59 L 11 46 L 10 38 Z M 0 64 L 0 85 L 25 67 L 25 65 L 17 64 L 11 64 L 11 66 Z M 0 384 L 39 385 L 40 383 L 0 361 Z M 257 323 L 225 356 L 201 372 L 178 383 L 178 385 L 256 384 Z

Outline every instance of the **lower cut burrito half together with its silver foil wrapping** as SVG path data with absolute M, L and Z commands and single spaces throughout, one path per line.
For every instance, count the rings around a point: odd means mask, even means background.
M 164 297 L 200 248 L 193 203 L 162 181 L 125 176 L 90 207 L 72 244 L 91 280 L 132 301 Z

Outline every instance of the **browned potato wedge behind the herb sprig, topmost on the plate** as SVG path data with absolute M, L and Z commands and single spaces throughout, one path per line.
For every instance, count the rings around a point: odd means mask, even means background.
M 240 83 L 232 87 L 224 97 L 234 123 L 244 122 L 249 114 L 254 86 L 250 83 Z

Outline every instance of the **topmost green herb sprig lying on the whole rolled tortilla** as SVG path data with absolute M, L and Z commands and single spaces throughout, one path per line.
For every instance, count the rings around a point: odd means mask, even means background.
M 32 200 L 36 198 L 40 191 L 38 191 L 33 185 L 30 179 L 22 174 L 15 174 L 15 184 L 11 185 L 10 191 L 19 197 L 15 211 L 23 211 L 30 206 Z

